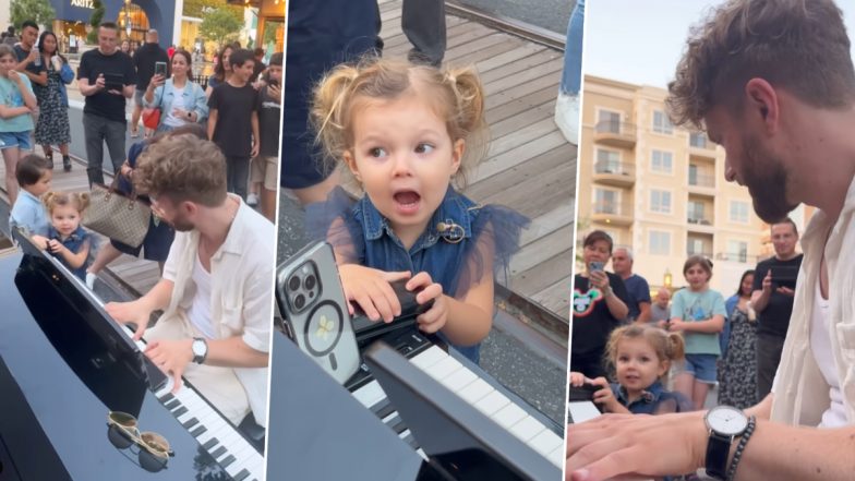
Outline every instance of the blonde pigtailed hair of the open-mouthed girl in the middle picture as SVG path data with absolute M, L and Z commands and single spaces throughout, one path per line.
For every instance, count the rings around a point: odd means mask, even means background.
M 465 188 L 467 173 L 484 157 L 487 143 L 484 89 L 473 68 L 436 69 L 374 57 L 336 67 L 315 87 L 310 115 L 325 161 L 342 164 L 345 152 L 353 147 L 353 115 L 364 100 L 394 100 L 412 93 L 435 104 L 453 142 L 466 140 L 454 179 Z

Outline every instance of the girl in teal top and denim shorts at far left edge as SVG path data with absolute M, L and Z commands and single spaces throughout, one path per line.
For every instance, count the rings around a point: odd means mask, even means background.
M 0 45 L 0 152 L 5 163 L 5 191 L 9 204 L 17 200 L 15 171 L 21 152 L 32 151 L 33 111 L 36 96 L 29 79 L 15 72 L 17 57 L 12 47 Z

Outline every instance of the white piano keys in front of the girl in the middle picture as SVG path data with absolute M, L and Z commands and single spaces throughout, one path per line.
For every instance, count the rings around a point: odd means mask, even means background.
M 558 468 L 564 466 L 565 448 L 564 440 L 561 436 L 528 414 L 526 410 L 442 348 L 431 346 L 410 358 L 409 361 L 508 430 L 520 441 L 527 443 L 552 464 Z M 354 389 L 352 395 L 362 406 L 370 409 L 392 428 L 398 437 L 410 444 L 419 455 L 425 457 L 410 431 L 404 425 L 397 411 L 389 405 L 386 394 L 376 380 Z

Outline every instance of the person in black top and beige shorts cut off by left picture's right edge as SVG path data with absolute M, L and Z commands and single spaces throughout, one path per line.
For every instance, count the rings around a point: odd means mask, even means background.
M 276 194 L 279 192 L 279 119 L 282 115 L 282 53 L 270 57 L 266 85 L 258 91 L 260 154 L 252 160 L 253 190 L 261 193 L 262 214 L 272 223 L 276 214 Z M 252 199 L 254 194 L 250 194 Z M 248 201 L 253 205 L 251 201 Z

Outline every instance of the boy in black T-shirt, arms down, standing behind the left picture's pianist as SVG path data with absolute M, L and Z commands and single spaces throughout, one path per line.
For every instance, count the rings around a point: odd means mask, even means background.
M 250 159 L 258 155 L 257 92 L 250 84 L 255 59 L 240 48 L 229 57 L 232 75 L 208 99 L 208 139 L 226 155 L 226 185 L 246 200 Z

